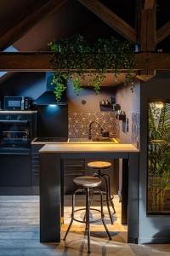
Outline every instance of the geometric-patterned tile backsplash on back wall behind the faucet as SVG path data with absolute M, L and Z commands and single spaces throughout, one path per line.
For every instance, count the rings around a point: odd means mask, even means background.
M 97 121 L 110 137 L 119 138 L 119 121 L 113 112 L 72 112 L 69 111 L 69 137 L 88 137 L 89 125 Z M 92 137 L 101 137 L 99 125 L 92 125 Z

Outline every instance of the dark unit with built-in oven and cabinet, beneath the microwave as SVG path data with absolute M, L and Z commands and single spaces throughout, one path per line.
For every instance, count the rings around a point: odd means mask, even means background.
M 31 140 L 35 137 L 37 112 L 0 111 L 0 195 L 9 191 L 7 187 L 31 186 Z M 15 190 L 10 191 L 15 195 Z

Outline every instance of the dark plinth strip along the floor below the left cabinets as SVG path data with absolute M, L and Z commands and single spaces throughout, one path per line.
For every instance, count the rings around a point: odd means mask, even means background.
M 39 187 L 0 187 L 0 195 L 39 195 Z

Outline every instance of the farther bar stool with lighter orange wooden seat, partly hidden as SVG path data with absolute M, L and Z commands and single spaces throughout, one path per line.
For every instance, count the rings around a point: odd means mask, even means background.
M 106 205 L 107 205 L 107 209 L 108 209 L 109 216 L 111 219 L 111 224 L 114 224 L 113 218 L 111 216 L 111 209 L 110 209 L 110 203 L 111 203 L 111 207 L 113 209 L 113 214 L 116 213 L 115 206 L 113 203 L 113 195 L 111 195 L 111 180 L 110 180 L 110 176 L 108 174 L 101 172 L 101 170 L 106 170 L 106 169 L 110 168 L 111 163 L 106 162 L 106 161 L 92 161 L 92 162 L 88 163 L 88 167 L 93 168 L 95 170 L 97 169 L 98 173 L 94 173 L 94 177 L 99 177 L 99 179 L 101 181 L 104 181 L 104 183 L 105 183 L 105 191 L 103 191 L 103 194 L 105 193 L 104 201 L 106 202 Z M 98 201 L 98 200 L 94 200 L 94 201 Z

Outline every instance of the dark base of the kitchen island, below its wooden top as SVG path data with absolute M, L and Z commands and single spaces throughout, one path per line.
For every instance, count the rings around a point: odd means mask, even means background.
M 122 223 L 127 224 L 127 241 L 138 243 L 139 221 L 139 154 L 138 153 L 43 153 L 40 154 L 40 241 L 59 242 L 61 213 L 64 200 L 61 182 L 63 180 L 63 159 L 100 157 L 105 159 L 123 159 Z M 50 170 L 50 172 L 48 172 Z M 127 207 L 128 206 L 128 207 Z M 63 215 L 63 214 L 62 214 Z

